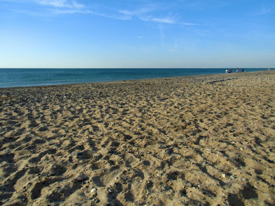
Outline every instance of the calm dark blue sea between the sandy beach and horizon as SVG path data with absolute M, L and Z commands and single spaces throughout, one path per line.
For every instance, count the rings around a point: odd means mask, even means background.
M 225 71 L 226 69 L 0 69 L 0 87 L 141 80 L 217 74 Z

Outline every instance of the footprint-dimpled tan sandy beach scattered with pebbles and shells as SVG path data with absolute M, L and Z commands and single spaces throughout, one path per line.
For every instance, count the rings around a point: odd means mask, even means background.
M 275 71 L 0 89 L 0 205 L 275 205 Z

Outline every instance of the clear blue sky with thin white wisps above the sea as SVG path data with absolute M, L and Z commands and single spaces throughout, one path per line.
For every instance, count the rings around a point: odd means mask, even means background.
M 274 0 L 0 0 L 0 68 L 275 67 Z

